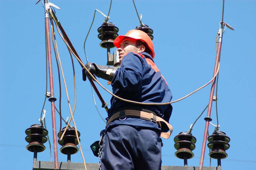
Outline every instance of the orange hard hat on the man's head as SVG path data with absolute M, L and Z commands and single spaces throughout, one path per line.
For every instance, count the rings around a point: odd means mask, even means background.
M 138 29 L 133 29 L 128 31 L 126 35 L 119 35 L 115 40 L 114 40 L 114 45 L 119 48 L 120 44 L 125 38 L 131 38 L 134 40 L 140 40 L 148 45 L 149 50 L 151 51 L 150 55 L 152 58 L 155 57 L 155 52 L 154 52 L 154 45 L 151 40 L 151 38 L 143 31 L 140 31 Z

